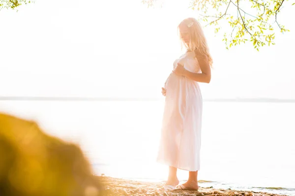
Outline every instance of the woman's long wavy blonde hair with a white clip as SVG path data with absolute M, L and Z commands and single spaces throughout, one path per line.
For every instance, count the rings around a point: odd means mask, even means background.
M 190 34 L 189 44 L 185 44 L 182 41 L 186 49 L 195 52 L 196 58 L 197 56 L 202 56 L 202 57 L 207 56 L 209 65 L 210 67 L 212 67 L 213 60 L 210 55 L 209 47 L 207 45 L 207 40 L 200 23 L 195 18 L 184 19 L 177 27 L 178 31 L 180 31 L 179 30 L 180 25 L 186 25 L 189 29 L 189 34 Z M 180 35 L 180 38 L 181 38 L 181 35 Z

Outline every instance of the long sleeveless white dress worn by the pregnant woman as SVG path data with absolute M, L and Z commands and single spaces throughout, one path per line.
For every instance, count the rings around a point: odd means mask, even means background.
M 194 52 L 176 59 L 190 72 L 201 73 Z M 170 74 L 157 162 L 186 171 L 200 170 L 200 148 L 203 100 L 198 82 Z

